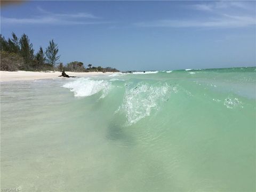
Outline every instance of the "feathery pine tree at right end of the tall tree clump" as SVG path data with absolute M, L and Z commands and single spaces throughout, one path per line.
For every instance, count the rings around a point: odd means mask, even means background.
M 58 52 L 59 52 L 58 44 L 54 43 L 52 39 L 52 41 L 50 41 L 50 45 L 46 49 L 45 54 L 46 54 L 46 61 L 53 67 L 56 65 L 57 60 L 60 58 L 60 55 L 57 56 Z

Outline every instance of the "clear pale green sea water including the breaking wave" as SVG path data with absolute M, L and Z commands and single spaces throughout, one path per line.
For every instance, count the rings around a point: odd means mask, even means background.
M 255 191 L 255 74 L 1 83 L 1 188 Z

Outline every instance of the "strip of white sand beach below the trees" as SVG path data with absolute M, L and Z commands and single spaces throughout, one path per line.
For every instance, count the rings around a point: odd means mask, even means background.
M 76 77 L 88 77 L 94 75 L 105 75 L 105 74 L 113 74 L 111 72 L 102 73 L 102 72 L 89 72 L 89 73 L 76 73 L 65 71 L 65 73 L 69 76 Z M 66 78 L 66 77 L 58 77 L 61 75 L 61 72 L 35 72 L 35 71 L 0 71 L 0 81 L 33 81 L 36 79 L 52 79 L 52 78 Z

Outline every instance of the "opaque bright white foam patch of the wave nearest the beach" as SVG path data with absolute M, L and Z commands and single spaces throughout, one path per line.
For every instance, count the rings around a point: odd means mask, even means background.
M 66 83 L 63 87 L 74 92 L 75 97 L 87 97 L 102 91 L 100 98 L 106 97 L 111 83 L 103 80 L 94 81 L 89 78 L 79 78 L 76 81 Z

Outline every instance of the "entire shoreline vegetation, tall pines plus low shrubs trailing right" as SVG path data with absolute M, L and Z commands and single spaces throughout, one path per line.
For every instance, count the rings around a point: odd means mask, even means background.
M 5 39 L 0 35 L 1 40 L 1 70 L 16 71 L 16 70 L 30 70 L 30 71 L 44 71 L 44 70 L 59 70 L 59 71 L 118 71 L 115 68 L 107 67 L 92 67 L 91 64 L 85 68 L 82 62 L 73 61 L 67 63 L 66 66 L 62 62 L 58 62 L 60 55 L 58 55 L 58 44 L 53 41 L 49 42 L 49 46 L 45 51 L 43 47 L 39 47 L 39 51 L 34 54 L 33 44 L 26 34 L 20 38 L 12 33 L 12 37 Z

